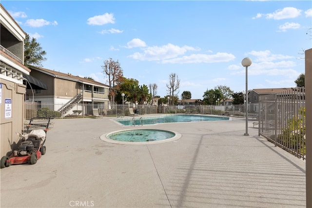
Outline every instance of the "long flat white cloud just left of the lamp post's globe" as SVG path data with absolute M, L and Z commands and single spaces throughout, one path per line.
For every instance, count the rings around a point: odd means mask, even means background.
M 214 55 L 207 54 L 192 54 L 190 56 L 183 56 L 163 60 L 162 63 L 216 63 L 228 62 L 234 60 L 235 56 L 228 53 L 216 53 Z

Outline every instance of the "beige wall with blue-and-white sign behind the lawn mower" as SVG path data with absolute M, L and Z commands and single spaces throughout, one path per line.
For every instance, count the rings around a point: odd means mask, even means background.
M 17 148 L 19 136 L 16 132 L 23 131 L 26 86 L 5 79 L 0 79 L 0 83 L 2 83 L 0 105 L 0 155 L 2 157 Z M 12 99 L 10 118 L 5 118 L 5 98 Z

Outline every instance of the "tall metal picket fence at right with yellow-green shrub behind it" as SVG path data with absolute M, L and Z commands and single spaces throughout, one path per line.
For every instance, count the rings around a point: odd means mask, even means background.
M 259 97 L 259 136 L 305 160 L 304 88 Z

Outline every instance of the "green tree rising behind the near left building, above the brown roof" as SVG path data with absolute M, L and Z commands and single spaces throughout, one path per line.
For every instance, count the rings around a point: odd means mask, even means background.
M 29 35 L 26 34 L 24 41 L 24 65 L 35 65 L 42 67 L 41 61 L 45 61 L 44 57 L 47 53 L 42 50 L 40 43 L 37 42 L 36 38 L 30 39 Z

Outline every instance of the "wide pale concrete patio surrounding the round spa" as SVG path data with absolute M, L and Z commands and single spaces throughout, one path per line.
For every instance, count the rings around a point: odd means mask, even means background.
M 306 207 L 305 161 L 245 120 L 125 127 L 112 118 L 54 119 L 35 165 L 0 170 L 1 208 Z M 173 142 L 102 141 L 124 129 L 182 134 Z

